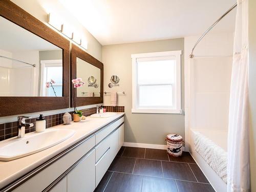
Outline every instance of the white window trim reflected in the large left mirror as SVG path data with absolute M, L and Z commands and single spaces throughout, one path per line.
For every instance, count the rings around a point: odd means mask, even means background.
M 62 67 L 62 59 L 41 60 L 41 79 L 40 79 L 40 96 L 48 95 L 48 89 L 45 88 L 45 67 Z M 62 86 L 62 84 L 56 84 L 56 86 Z

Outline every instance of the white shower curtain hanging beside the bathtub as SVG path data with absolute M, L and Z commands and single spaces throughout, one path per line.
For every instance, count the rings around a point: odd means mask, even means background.
M 248 0 L 238 0 L 233 53 L 227 191 L 249 191 Z

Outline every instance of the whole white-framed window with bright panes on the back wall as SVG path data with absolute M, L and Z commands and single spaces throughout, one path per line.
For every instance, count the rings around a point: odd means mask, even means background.
M 181 113 L 181 51 L 132 54 L 132 113 Z

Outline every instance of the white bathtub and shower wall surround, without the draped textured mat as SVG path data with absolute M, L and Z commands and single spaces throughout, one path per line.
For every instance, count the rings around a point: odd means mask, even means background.
M 191 59 L 199 37 L 184 40 L 185 145 L 215 190 L 226 191 L 226 183 L 194 150 L 193 129 L 202 129 L 202 135 L 226 151 L 233 32 L 207 34 Z

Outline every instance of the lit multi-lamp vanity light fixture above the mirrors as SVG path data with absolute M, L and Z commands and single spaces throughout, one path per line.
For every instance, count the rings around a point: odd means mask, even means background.
M 48 24 L 57 29 L 63 35 L 68 37 L 70 40 L 75 42 L 76 45 L 83 49 L 88 49 L 88 42 L 85 39 L 81 39 L 81 35 L 79 33 L 72 31 L 72 28 L 65 24 L 60 17 L 53 13 L 48 14 Z

